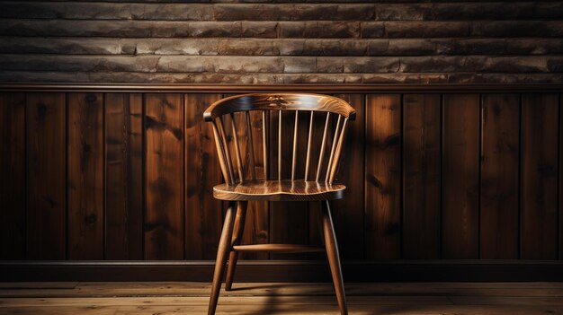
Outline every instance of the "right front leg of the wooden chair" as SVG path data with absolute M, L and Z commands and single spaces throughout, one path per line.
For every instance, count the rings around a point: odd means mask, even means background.
M 336 244 L 335 227 L 333 225 L 332 215 L 330 214 L 330 206 L 328 205 L 328 200 L 324 200 L 321 203 L 323 213 L 321 220 L 323 222 L 323 235 L 325 238 L 326 257 L 328 258 L 330 273 L 333 276 L 333 283 L 335 284 L 336 299 L 338 300 L 340 314 L 347 315 L 348 307 L 346 306 L 344 280 L 342 278 L 342 269 L 340 267 L 338 245 Z

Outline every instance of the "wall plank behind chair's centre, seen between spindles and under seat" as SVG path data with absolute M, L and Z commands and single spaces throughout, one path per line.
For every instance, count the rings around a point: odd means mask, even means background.
M 302 116 L 304 117 L 304 116 Z M 299 117 L 300 119 L 302 117 Z M 278 174 L 278 118 L 277 111 L 271 112 L 270 121 L 270 159 L 273 179 Z M 302 119 L 301 119 L 302 120 Z M 307 120 L 307 119 L 305 119 Z M 282 112 L 281 171 L 282 178 L 291 178 L 291 157 L 293 152 L 293 127 L 295 112 Z M 272 243 L 308 244 L 308 203 L 270 202 L 270 241 Z M 307 254 L 270 254 L 272 259 L 307 258 Z

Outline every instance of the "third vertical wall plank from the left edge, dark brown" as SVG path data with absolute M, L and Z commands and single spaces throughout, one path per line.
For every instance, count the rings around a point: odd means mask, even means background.
M 67 94 L 69 259 L 103 259 L 103 94 Z

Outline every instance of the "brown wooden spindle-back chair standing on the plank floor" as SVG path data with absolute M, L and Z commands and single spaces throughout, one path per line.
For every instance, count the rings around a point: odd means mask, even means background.
M 228 255 L 227 291 L 231 289 L 238 253 L 241 251 L 297 253 L 325 250 L 340 312 L 347 314 L 340 258 L 328 201 L 344 197 L 345 186 L 336 182 L 335 176 L 344 145 L 346 125 L 349 120 L 355 118 L 355 110 L 347 102 L 327 95 L 256 93 L 216 101 L 205 110 L 203 117 L 213 123 L 219 164 L 225 179 L 224 184 L 213 188 L 213 197 L 229 201 L 219 239 L 208 314 L 215 313 Z M 288 118 L 290 121 L 285 120 Z M 306 152 L 299 153 L 301 158 L 298 161 L 298 144 L 304 144 L 299 142 L 298 129 L 299 125 L 306 126 L 304 123 L 307 122 L 307 120 L 299 119 L 308 119 L 308 132 L 307 139 L 304 139 L 307 141 Z M 253 138 L 251 120 L 255 126 L 262 129 L 261 139 Z M 293 121 L 293 126 L 290 128 Z M 301 121 L 300 124 L 299 121 Z M 316 121 L 317 124 L 315 124 Z M 227 124 L 230 125 L 228 126 L 230 136 L 226 132 Z M 241 125 L 246 125 L 246 127 L 241 127 Z M 277 130 L 270 130 L 270 125 L 277 127 Z M 284 127 L 292 130 L 284 130 Z M 315 132 L 317 127 L 323 128 L 320 141 L 317 141 L 319 133 Z M 245 132 L 241 133 L 241 131 Z M 273 132 L 271 133 L 271 131 Z M 301 130 L 301 134 L 305 135 L 303 131 Z M 241 136 L 241 134 L 245 136 Z M 273 141 L 277 138 L 277 150 L 270 147 L 271 137 Z M 290 160 L 289 157 L 287 159 L 288 164 L 291 161 L 289 176 L 289 170 L 283 170 L 282 161 L 285 155 L 282 143 L 287 144 L 291 137 L 293 139 L 291 156 Z M 243 140 L 246 142 L 246 152 L 241 153 L 241 141 Z M 302 146 L 301 150 L 303 148 Z M 256 157 L 255 151 L 262 153 L 263 156 Z M 297 165 L 302 162 L 303 155 L 305 155 L 304 172 L 299 174 Z M 270 157 L 273 159 L 277 157 L 277 167 L 272 165 Z M 262 158 L 262 163 L 260 163 L 262 165 L 257 165 L 259 158 Z M 313 159 L 316 161 L 312 161 Z M 262 178 L 256 176 L 257 166 L 263 170 Z M 277 171 L 275 175 L 272 170 Z M 245 225 L 246 206 L 248 201 L 252 200 L 320 201 L 325 248 L 294 244 L 240 245 Z

